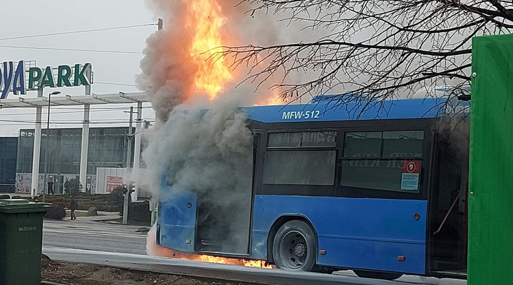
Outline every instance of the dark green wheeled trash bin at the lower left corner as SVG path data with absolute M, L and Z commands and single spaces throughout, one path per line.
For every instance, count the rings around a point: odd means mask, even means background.
M 43 215 L 48 204 L 0 200 L 0 284 L 40 285 Z

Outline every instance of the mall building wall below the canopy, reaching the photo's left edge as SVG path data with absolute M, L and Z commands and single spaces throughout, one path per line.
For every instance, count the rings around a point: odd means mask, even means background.
M 91 193 L 109 193 L 126 180 L 128 171 L 128 127 L 94 127 L 89 131 L 86 187 Z M 132 134 L 135 129 L 132 128 Z M 49 134 L 49 135 L 48 135 Z M 66 181 L 77 178 L 80 172 L 82 129 L 42 130 L 39 156 L 39 187 L 45 181 L 45 156 L 48 140 L 47 178 L 54 182 L 54 193 L 64 192 Z M 134 144 L 132 144 L 132 154 Z M 0 193 L 30 193 L 34 129 L 20 129 L 17 138 L 0 138 Z M 131 158 L 133 167 L 134 158 Z M 87 185 L 88 184 L 88 185 Z M 145 189 L 139 189 L 139 198 L 149 198 Z

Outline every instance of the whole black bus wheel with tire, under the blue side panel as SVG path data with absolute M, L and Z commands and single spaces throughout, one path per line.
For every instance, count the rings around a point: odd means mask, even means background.
M 316 268 L 317 239 L 309 224 L 292 220 L 274 235 L 272 258 L 276 267 L 292 271 Z

